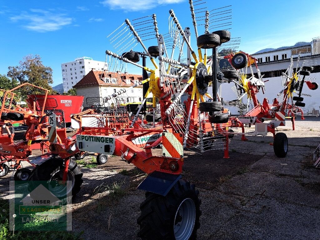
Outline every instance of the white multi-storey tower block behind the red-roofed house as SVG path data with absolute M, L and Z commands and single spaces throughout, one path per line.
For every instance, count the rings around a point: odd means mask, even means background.
M 62 63 L 63 92 L 68 92 L 68 90 L 76 85 L 92 68 L 104 70 L 108 68 L 108 64 L 93 60 L 89 57 L 76 58 L 72 62 Z

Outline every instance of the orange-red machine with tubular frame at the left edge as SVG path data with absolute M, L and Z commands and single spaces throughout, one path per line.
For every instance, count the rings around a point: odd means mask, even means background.
M 44 91 L 43 99 L 36 99 L 28 96 L 28 104 L 21 105 L 16 101 L 16 93 L 21 89 L 37 89 Z M 55 99 L 48 99 L 48 90 L 37 87 L 32 84 L 21 84 L 20 86 L 8 91 L 4 91 L 2 97 L 1 114 L 1 136 L 0 136 L 0 175 L 4 176 L 9 172 L 9 168 L 13 170 L 14 180 L 28 180 L 31 171 L 22 167 L 22 162 L 27 161 L 33 167 L 36 165 L 31 163 L 28 156 L 32 154 L 32 150 L 40 149 L 44 153 L 49 148 L 48 129 L 46 125 L 45 106 L 55 102 Z M 40 103 L 40 105 L 39 105 Z M 52 105 L 52 104 L 51 104 Z M 37 107 L 37 108 L 36 108 Z M 38 111 L 35 109 L 39 109 Z M 63 115 L 63 113 L 62 113 Z M 62 120 L 62 119 L 61 119 Z M 22 140 L 14 140 L 14 123 L 25 124 L 28 126 Z M 61 134 L 62 130 L 62 134 Z M 60 136 L 66 138 L 65 128 L 60 128 Z M 7 164 L 6 164 L 7 163 Z M 11 163 L 11 164 L 9 164 Z

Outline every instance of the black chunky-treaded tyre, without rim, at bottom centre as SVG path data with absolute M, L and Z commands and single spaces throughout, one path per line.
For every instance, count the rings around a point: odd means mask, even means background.
M 196 239 L 200 227 L 201 200 L 195 185 L 183 179 L 180 179 L 166 196 L 146 192 L 146 200 L 140 204 L 141 215 L 137 220 L 140 225 L 138 237 L 142 240 L 176 239 L 174 236 L 176 212 L 180 204 L 187 199 L 191 199 L 194 203 L 195 208 L 192 209 L 195 210 L 195 222 L 191 235 L 183 239 Z

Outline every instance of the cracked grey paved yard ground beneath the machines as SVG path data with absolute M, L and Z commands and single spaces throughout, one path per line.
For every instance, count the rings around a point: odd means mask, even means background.
M 271 136 L 247 136 L 246 142 L 235 136 L 228 159 L 222 158 L 222 151 L 203 155 L 186 151 L 183 175 L 196 183 L 202 199 L 198 239 L 320 239 L 320 175 L 312 167 L 312 153 L 320 143 L 319 121 L 297 119 L 295 131 L 290 121 L 278 128 L 288 136 L 286 158 L 274 155 L 268 144 Z M 94 156 L 86 157 L 86 163 L 93 161 Z M 73 204 L 73 231 L 84 231 L 86 240 L 137 239 L 144 192 L 136 186 L 145 175 L 119 157 L 93 167 L 82 170 L 84 183 Z M 119 174 L 123 169 L 127 171 Z M 10 198 L 9 179 L 0 180 L 5 198 Z M 123 190 L 118 197 L 109 196 L 108 187 L 94 194 L 101 184 L 115 182 Z

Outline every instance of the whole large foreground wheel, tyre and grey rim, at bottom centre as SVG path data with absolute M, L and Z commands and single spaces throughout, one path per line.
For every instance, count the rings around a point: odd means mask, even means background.
M 146 192 L 138 237 L 143 240 L 196 239 L 201 200 L 194 184 L 180 179 L 166 196 Z

